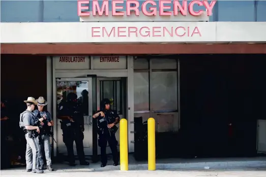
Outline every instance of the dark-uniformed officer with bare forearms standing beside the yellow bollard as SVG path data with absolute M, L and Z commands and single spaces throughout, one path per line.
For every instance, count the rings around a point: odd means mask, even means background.
M 101 148 L 101 167 L 107 164 L 107 141 L 112 151 L 113 165 L 117 166 L 119 164 L 119 154 L 117 152 L 118 142 L 115 138 L 115 132 L 118 128 L 115 125 L 119 123 L 120 117 L 116 111 L 110 110 L 110 103 L 109 99 L 104 98 L 101 101 L 101 110 L 93 115 L 93 118 L 98 120 L 98 146 Z

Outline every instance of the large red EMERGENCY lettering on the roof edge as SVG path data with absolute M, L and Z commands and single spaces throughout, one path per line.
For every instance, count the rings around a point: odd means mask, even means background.
M 92 9 L 89 8 L 90 2 L 92 3 Z M 207 15 L 212 15 L 212 10 L 216 1 L 211 1 L 209 4 L 208 1 L 192 1 L 188 4 L 187 1 L 173 0 L 173 1 L 144 1 L 142 5 L 139 1 L 120 1 L 120 0 L 112 0 L 111 7 L 109 7 L 109 1 L 103 0 L 101 1 L 101 5 L 99 4 L 98 0 L 92 1 L 83 1 L 78 0 L 78 16 L 131 16 L 134 14 L 135 16 L 139 16 L 139 13 L 142 12 L 146 16 L 157 16 L 159 12 L 159 16 L 177 16 L 183 15 L 187 16 L 188 13 L 192 16 L 200 16 L 203 14 L 203 10 L 195 11 L 193 7 L 201 6 L 206 9 Z M 123 5 L 121 5 L 123 4 Z M 171 4 L 173 7 L 172 11 Z M 140 7 L 141 6 L 141 7 Z M 122 10 L 126 7 L 126 10 L 123 12 Z M 147 8 L 148 7 L 148 8 Z M 159 11 L 157 12 L 157 7 L 159 7 Z M 109 12 L 109 8 L 111 11 Z M 140 9 L 140 10 L 139 10 Z

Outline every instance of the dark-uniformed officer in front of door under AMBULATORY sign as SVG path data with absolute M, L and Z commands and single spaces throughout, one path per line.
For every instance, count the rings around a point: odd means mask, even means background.
M 84 117 L 77 104 L 77 95 L 69 93 L 66 101 L 61 101 L 58 105 L 58 119 L 61 119 L 61 129 L 63 130 L 63 141 L 67 147 L 69 165 L 75 166 L 73 143 L 75 140 L 77 155 L 80 165 L 89 165 L 85 161 L 83 139 L 84 139 Z

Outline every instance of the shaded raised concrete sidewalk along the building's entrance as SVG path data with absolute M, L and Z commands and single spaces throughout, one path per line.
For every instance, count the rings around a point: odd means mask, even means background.
M 109 158 L 108 158 L 109 159 Z M 78 161 L 76 161 L 77 164 Z M 266 157 L 253 158 L 194 158 L 194 159 L 179 159 L 168 158 L 156 160 L 156 169 L 204 169 L 209 168 L 239 168 L 239 167 L 266 167 Z M 53 164 L 53 168 L 57 172 L 66 171 L 110 171 L 120 170 L 119 166 L 112 166 L 112 161 L 109 160 L 107 166 L 100 167 L 100 162 L 91 163 L 89 166 L 77 165 L 71 167 L 67 162 Z M 147 162 L 135 161 L 132 155 L 129 156 L 129 170 L 147 170 Z M 25 171 L 25 167 L 11 168 L 3 170 L 8 171 Z

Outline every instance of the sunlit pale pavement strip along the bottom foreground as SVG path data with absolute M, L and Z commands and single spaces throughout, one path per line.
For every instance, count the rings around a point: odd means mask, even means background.
M 137 170 L 137 171 L 45 171 L 43 174 L 36 174 L 32 172 L 21 171 L 1 171 L 1 176 L 4 177 L 29 177 L 29 176 L 43 176 L 43 177 L 264 177 L 266 174 L 266 167 L 262 168 L 231 168 L 231 169 L 171 169 L 171 170 Z

